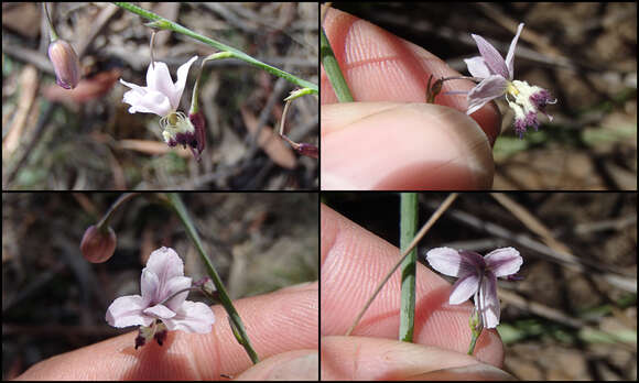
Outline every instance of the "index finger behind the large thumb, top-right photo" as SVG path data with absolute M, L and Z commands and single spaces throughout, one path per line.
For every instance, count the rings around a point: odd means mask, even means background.
M 425 102 L 431 75 L 435 79 L 461 76 L 426 50 L 339 10 L 329 9 L 323 26 L 356 101 Z M 323 67 L 321 81 L 322 103 L 337 102 Z M 465 95 L 444 92 L 468 91 L 474 86 L 469 80 L 444 81 L 435 101 L 465 112 Z M 500 128 L 495 103 L 489 102 L 470 117 L 494 144 Z

